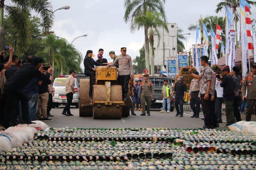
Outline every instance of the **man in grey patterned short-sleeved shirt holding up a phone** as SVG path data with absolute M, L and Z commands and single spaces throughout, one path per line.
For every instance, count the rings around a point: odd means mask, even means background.
M 208 64 L 208 57 L 202 56 L 200 58 L 200 63 L 204 67 L 202 72 L 199 75 L 196 75 L 191 72 L 189 69 L 190 74 L 197 79 L 202 79 L 202 84 L 200 87 L 200 100 L 202 103 L 202 109 L 204 112 L 204 125 L 200 128 L 204 129 L 212 129 L 214 128 L 214 118 L 212 115 L 211 109 L 211 98 L 212 98 L 212 69 Z

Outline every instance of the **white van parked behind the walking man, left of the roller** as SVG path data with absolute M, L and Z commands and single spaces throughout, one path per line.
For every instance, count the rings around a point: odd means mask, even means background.
M 52 97 L 53 102 L 53 108 L 59 107 L 61 104 L 66 105 L 67 103 L 67 96 L 66 96 L 66 80 L 68 78 L 68 75 L 66 76 L 58 76 L 58 78 L 54 79 L 53 83 L 53 91 L 54 96 Z M 73 95 L 72 100 L 72 106 L 76 106 L 76 108 L 79 108 L 79 86 L 77 79 L 75 78 L 75 93 Z

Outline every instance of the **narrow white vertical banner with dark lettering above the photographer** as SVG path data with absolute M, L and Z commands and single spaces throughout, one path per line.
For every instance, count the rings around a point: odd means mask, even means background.
M 229 36 L 229 42 L 230 42 L 230 52 L 228 56 L 228 66 L 230 69 L 235 66 L 235 60 L 236 60 L 236 53 L 235 53 L 235 47 L 236 47 L 236 31 L 230 32 Z

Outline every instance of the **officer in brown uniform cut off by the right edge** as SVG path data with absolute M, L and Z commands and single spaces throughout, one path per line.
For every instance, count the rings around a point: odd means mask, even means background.
M 247 88 L 247 96 L 246 95 Z M 247 100 L 246 121 L 251 121 L 253 107 L 256 105 L 256 63 L 252 64 L 252 72 L 246 74 L 242 85 L 243 100 Z

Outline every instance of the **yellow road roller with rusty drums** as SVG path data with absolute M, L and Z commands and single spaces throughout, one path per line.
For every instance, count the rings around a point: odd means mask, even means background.
M 121 119 L 130 113 L 130 94 L 122 101 L 122 86 L 117 84 L 117 68 L 96 67 L 93 98 L 89 98 L 90 79 L 80 79 L 80 117 Z M 129 92 L 128 92 L 129 93 Z

